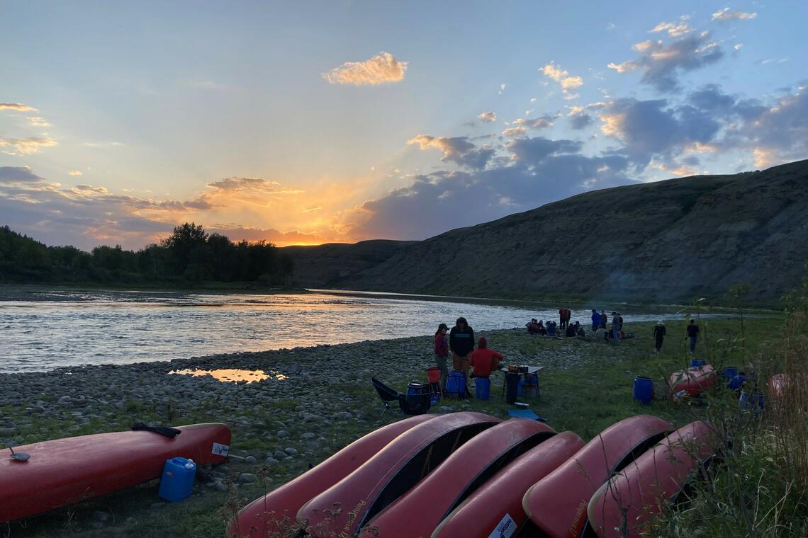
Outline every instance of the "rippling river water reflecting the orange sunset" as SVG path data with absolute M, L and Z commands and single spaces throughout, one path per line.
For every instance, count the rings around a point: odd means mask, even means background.
M 0 292 L 0 373 L 431 335 L 460 315 L 480 331 L 557 319 L 558 309 L 392 294 Z M 626 323 L 681 317 L 624 315 Z M 572 319 L 586 325 L 590 311 Z

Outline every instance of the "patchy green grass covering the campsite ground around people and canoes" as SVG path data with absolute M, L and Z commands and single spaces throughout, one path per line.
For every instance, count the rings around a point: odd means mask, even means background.
M 699 308 L 694 305 L 692 314 L 699 315 Z M 793 342 L 786 343 L 785 348 L 781 338 L 781 327 L 792 323 L 792 320 L 793 316 L 786 319 L 784 315 L 771 313 L 746 313 L 742 334 L 738 319 L 727 316 L 701 319 L 702 336 L 705 338 L 699 342 L 695 357 L 705 358 L 717 368 L 736 365 L 739 369 L 755 369 L 760 373 L 760 378 L 774 371 L 804 371 L 804 357 L 808 356 L 804 336 L 803 340 L 795 337 Z M 653 323 L 627 323 L 626 330 L 636 332 L 637 337 L 623 340 L 619 345 L 578 339 L 541 339 L 517 330 L 483 334 L 489 339 L 491 348 L 504 352 L 506 362 L 532 364 L 532 361 L 538 361 L 548 364 L 540 372 L 541 398 L 523 401 L 531 402 L 531 408 L 547 418 L 556 431 L 570 430 L 584 440 L 590 440 L 612 423 L 638 414 L 657 415 L 676 426 L 694 419 L 717 421 L 739 416 L 737 401 L 728 391 L 710 395 L 706 398 L 707 402 L 677 404 L 667 398 L 667 377 L 675 370 L 688 366 L 691 358 L 684 340 L 684 324 L 676 322 L 668 325 L 668 336 L 659 354 L 654 353 L 653 349 Z M 808 325 L 804 323 L 801 327 L 791 327 L 791 330 L 796 335 L 804 335 L 806 327 Z M 802 344 L 799 344 L 800 341 Z M 372 348 L 372 343 L 368 345 Z M 563 367 L 563 357 L 578 357 L 575 360 L 579 364 Z M 802 357 L 799 359 L 802 363 L 797 357 Z M 422 358 L 424 368 L 431 365 L 428 348 Z M 553 365 L 555 362 L 558 365 Z M 656 384 L 657 399 L 648 406 L 634 401 L 631 396 L 633 378 L 638 375 L 651 377 Z M 410 378 L 386 381 L 403 389 L 406 382 L 421 377 L 423 373 L 419 371 Z M 313 390 L 318 388 L 313 387 Z M 369 383 L 347 384 L 341 386 L 340 390 L 356 401 L 356 407 L 366 410 L 364 416 L 344 423 L 335 422 L 322 432 L 327 440 L 326 449 L 309 463 L 317 464 L 330 453 L 377 427 L 381 404 L 370 390 Z M 170 402 L 161 408 L 144 408 L 132 402 L 124 410 L 116 411 L 114 420 L 121 424 L 128 424 L 136 418 L 205 422 L 216 419 L 216 406 L 216 402 L 211 400 L 203 408 L 177 417 L 169 416 L 176 412 Z M 295 406 L 295 402 L 288 401 L 273 409 L 244 411 L 242 421 L 231 425 L 234 446 L 251 450 L 265 445 L 260 439 L 260 432 L 271 430 L 274 421 L 284 419 Z M 503 418 L 507 418 L 507 409 L 511 408 L 502 398 L 501 377 L 492 378 L 490 400 L 444 400 L 439 406 L 456 411 L 482 411 Z M 806 536 L 798 533 L 805 532 L 805 527 L 801 531 L 793 523 L 797 521 L 797 516 L 808 514 L 804 498 L 800 496 L 808 489 L 808 483 L 804 482 L 808 476 L 805 469 L 808 464 L 804 461 L 805 447 L 802 447 L 802 452 L 794 448 L 799 440 L 805 440 L 806 414 L 799 415 L 801 411 L 808 412 L 808 406 L 777 411 L 779 415 L 768 422 L 748 416 L 737 419 L 732 438 L 734 451 L 726 458 L 726 463 L 697 490 L 696 500 L 687 503 L 684 508 L 666 511 L 663 518 L 654 523 L 658 532 L 655 536 Z M 0 409 L 0 412 L 4 416 L 14 417 L 22 410 Z M 392 422 L 399 417 L 396 413 L 388 412 L 385 421 Z M 789 425 L 788 421 L 793 419 L 803 424 L 802 433 L 795 432 Z M 41 428 L 42 424 L 37 426 Z M 78 433 L 94 433 L 101 427 L 103 425 L 99 423 L 82 424 Z M 53 428 L 53 436 L 58 437 L 64 432 L 65 424 L 53 421 L 48 428 Z M 33 433 L 20 433 L 25 442 L 35 440 L 31 439 Z M 802 461 L 800 458 L 803 458 Z M 14 523 L 10 527 L 11 536 L 143 536 L 146 529 L 148 536 L 154 538 L 224 536 L 223 509 L 232 513 L 235 508 L 259 497 L 265 490 L 281 485 L 303 471 L 305 467 L 301 465 L 273 465 L 269 469 L 262 469 L 257 465 L 231 462 L 225 465 L 225 473 L 265 472 L 267 482 L 271 483 L 265 486 L 241 486 L 230 492 L 197 484 L 191 499 L 158 509 L 149 508 L 158 501 L 154 485 L 135 488 L 81 503 L 69 510 L 29 519 L 25 523 L 27 529 L 22 528 L 19 522 Z M 111 515 L 114 523 L 93 528 L 95 511 Z M 741 523 L 730 525 L 727 523 L 729 519 Z M 755 534 L 749 532 L 749 528 L 759 531 Z M 3 536 L 2 527 L 0 536 Z

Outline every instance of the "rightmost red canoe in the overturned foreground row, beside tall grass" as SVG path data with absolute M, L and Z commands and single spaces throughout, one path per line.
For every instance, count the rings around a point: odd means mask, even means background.
M 671 433 L 597 490 L 587 510 L 591 527 L 600 538 L 641 536 L 644 523 L 659 514 L 659 503 L 679 494 L 715 444 L 701 421 Z

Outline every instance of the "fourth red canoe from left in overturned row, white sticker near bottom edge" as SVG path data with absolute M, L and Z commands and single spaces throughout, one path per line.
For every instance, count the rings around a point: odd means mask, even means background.
M 543 441 L 471 494 L 438 525 L 431 538 L 515 536 L 528 517 L 522 507 L 524 492 L 582 447 L 583 440 L 573 432 Z

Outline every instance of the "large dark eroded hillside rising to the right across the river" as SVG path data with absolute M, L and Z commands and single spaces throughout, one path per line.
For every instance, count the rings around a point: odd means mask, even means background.
M 666 302 L 720 298 L 748 282 L 749 300 L 772 304 L 805 273 L 806 181 L 808 161 L 798 161 L 592 191 L 399 245 L 327 286 Z

